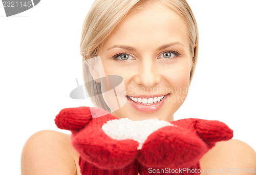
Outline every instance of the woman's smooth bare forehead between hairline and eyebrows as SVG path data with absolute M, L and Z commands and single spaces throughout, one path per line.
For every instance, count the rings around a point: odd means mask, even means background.
M 149 3 L 127 14 L 106 38 L 105 45 L 126 44 L 140 48 L 156 46 L 156 42 L 177 41 L 189 46 L 184 20 L 166 6 Z

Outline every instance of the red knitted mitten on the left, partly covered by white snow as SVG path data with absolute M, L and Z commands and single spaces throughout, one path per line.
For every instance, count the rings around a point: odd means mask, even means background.
M 103 117 L 92 120 L 92 113 Z M 83 175 L 138 174 L 138 142 L 114 140 L 101 129 L 103 123 L 113 119 L 118 118 L 95 107 L 65 108 L 56 116 L 56 125 L 72 132 L 72 145 L 80 154 Z

